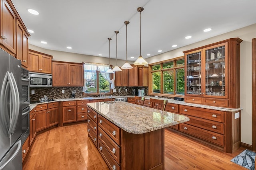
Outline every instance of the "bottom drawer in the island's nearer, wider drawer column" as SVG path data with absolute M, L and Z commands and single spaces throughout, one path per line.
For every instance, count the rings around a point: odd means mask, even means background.
M 106 147 L 102 144 L 100 140 L 98 140 L 98 150 L 100 151 L 100 154 L 108 164 L 108 167 L 112 170 L 120 170 L 120 166 L 118 163 L 112 158 Z

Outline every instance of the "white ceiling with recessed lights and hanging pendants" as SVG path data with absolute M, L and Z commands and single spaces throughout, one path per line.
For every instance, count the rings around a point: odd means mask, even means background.
M 256 0 L 12 0 L 27 29 L 29 43 L 44 49 L 135 61 L 171 51 L 256 23 Z M 27 9 L 39 12 L 30 14 Z M 203 32 L 206 28 L 210 32 Z M 191 35 L 191 39 L 185 39 Z M 46 41 L 42 44 L 40 41 Z M 172 45 L 178 45 L 172 47 Z M 72 49 L 66 49 L 67 46 Z M 162 52 L 158 52 L 162 50 Z M 151 54 L 147 56 L 147 54 Z M 134 56 L 134 59 L 130 57 Z M 72 57 L 72 56 L 70 56 Z

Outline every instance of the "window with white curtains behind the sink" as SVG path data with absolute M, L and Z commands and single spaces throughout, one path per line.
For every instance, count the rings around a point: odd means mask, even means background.
M 111 74 L 106 73 L 109 65 L 84 63 L 84 94 L 110 93 Z

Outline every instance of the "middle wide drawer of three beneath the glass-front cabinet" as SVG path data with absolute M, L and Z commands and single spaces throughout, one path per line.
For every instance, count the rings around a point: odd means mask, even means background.
M 188 116 L 188 117 L 190 120 L 185 122 L 185 124 L 192 125 L 195 127 L 200 127 L 208 131 L 224 134 L 224 123 L 210 121 L 207 119 L 201 119 L 194 116 Z

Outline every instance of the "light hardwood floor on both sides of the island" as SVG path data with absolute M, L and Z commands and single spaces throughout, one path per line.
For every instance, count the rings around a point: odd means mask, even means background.
M 241 170 L 232 154 L 210 149 L 198 142 L 165 130 L 165 170 Z M 23 170 L 108 170 L 100 153 L 88 138 L 85 122 L 54 127 L 36 136 Z

